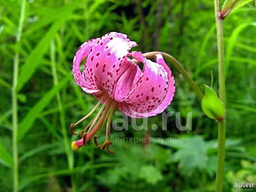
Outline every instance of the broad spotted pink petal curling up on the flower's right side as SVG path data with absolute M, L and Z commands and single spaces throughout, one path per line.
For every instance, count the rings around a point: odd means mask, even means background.
M 175 84 L 170 68 L 161 54 L 154 63 L 141 52 L 132 52 L 133 58 L 143 62 L 143 72 L 124 102 L 118 108 L 128 116 L 143 118 L 162 113 L 172 101 Z

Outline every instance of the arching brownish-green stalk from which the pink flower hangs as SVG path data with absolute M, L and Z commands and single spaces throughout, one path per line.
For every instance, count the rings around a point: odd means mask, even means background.
M 175 60 L 175 58 L 170 56 L 170 54 L 167 54 L 165 52 L 154 51 L 154 52 L 146 52 L 146 53 L 143 54 L 143 56 L 145 56 L 145 58 L 148 58 L 148 59 L 154 59 L 156 57 L 156 54 L 162 54 L 164 56 L 164 60 L 168 61 L 175 68 L 177 68 L 177 70 L 180 72 L 180 74 L 182 74 L 182 76 L 186 79 L 186 81 L 188 81 L 190 86 L 197 93 L 198 97 L 201 100 L 204 98 L 204 94 L 198 88 L 198 86 L 196 85 L 195 81 L 193 81 L 193 79 L 189 76 L 188 72 L 186 72 L 186 70 L 184 69 L 184 67 L 182 67 L 182 65 L 179 63 L 179 61 Z

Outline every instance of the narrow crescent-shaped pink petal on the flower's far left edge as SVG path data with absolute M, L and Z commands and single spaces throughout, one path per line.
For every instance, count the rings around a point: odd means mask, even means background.
M 96 44 L 99 38 L 91 39 L 85 42 L 79 47 L 76 52 L 76 56 L 73 61 L 73 76 L 76 83 L 83 88 L 86 93 L 96 93 L 99 92 L 97 88 L 92 88 L 92 84 L 88 83 L 84 76 L 81 74 L 80 65 L 81 61 L 88 56 L 90 49 Z

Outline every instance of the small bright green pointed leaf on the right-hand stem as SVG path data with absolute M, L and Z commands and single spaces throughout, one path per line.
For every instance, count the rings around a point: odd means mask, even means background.
M 225 110 L 223 103 L 211 87 L 205 84 L 205 96 L 202 99 L 202 109 L 209 118 L 223 120 Z

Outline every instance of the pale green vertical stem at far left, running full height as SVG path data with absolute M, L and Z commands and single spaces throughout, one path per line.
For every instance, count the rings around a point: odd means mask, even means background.
M 26 0 L 21 1 L 19 27 L 16 36 L 17 49 L 13 61 L 13 85 L 12 85 L 12 150 L 13 150 L 13 191 L 19 191 L 19 153 L 18 153 L 18 102 L 17 102 L 17 82 L 19 75 L 19 58 L 20 58 L 20 38 L 25 18 Z

